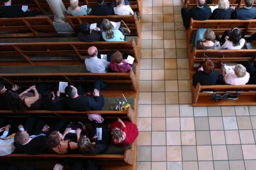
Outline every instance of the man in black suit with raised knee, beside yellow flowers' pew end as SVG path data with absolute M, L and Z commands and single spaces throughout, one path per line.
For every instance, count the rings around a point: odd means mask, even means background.
M 100 90 L 101 88 L 107 90 L 107 86 L 106 83 L 96 79 L 93 85 L 93 95 L 88 96 L 81 87 L 77 89 L 73 85 L 69 85 L 65 88 L 65 94 L 69 96 L 65 102 L 73 111 L 100 111 L 105 105 Z

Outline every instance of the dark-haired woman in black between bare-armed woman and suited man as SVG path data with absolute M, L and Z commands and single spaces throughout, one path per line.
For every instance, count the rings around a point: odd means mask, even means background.
M 65 111 L 70 110 L 66 105 L 64 98 L 60 97 L 61 92 L 57 91 L 55 95 L 53 91 L 46 91 L 42 95 L 42 105 L 49 111 Z

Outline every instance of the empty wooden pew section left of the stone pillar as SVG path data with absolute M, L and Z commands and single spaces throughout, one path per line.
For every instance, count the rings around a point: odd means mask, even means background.
M 58 37 L 49 17 L 0 18 L 0 37 Z

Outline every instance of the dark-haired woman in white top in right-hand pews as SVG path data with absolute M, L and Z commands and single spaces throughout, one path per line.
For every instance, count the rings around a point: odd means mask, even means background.
M 244 46 L 245 40 L 241 38 L 241 30 L 235 27 L 231 32 L 226 30 L 221 36 L 220 42 L 223 44 L 221 49 L 238 50 Z

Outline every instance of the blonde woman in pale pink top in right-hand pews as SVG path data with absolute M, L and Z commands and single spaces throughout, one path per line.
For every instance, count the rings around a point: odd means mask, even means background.
M 223 82 L 227 85 L 245 85 L 249 79 L 250 74 L 246 71 L 246 68 L 241 64 L 237 64 L 233 72 L 225 72 Z

